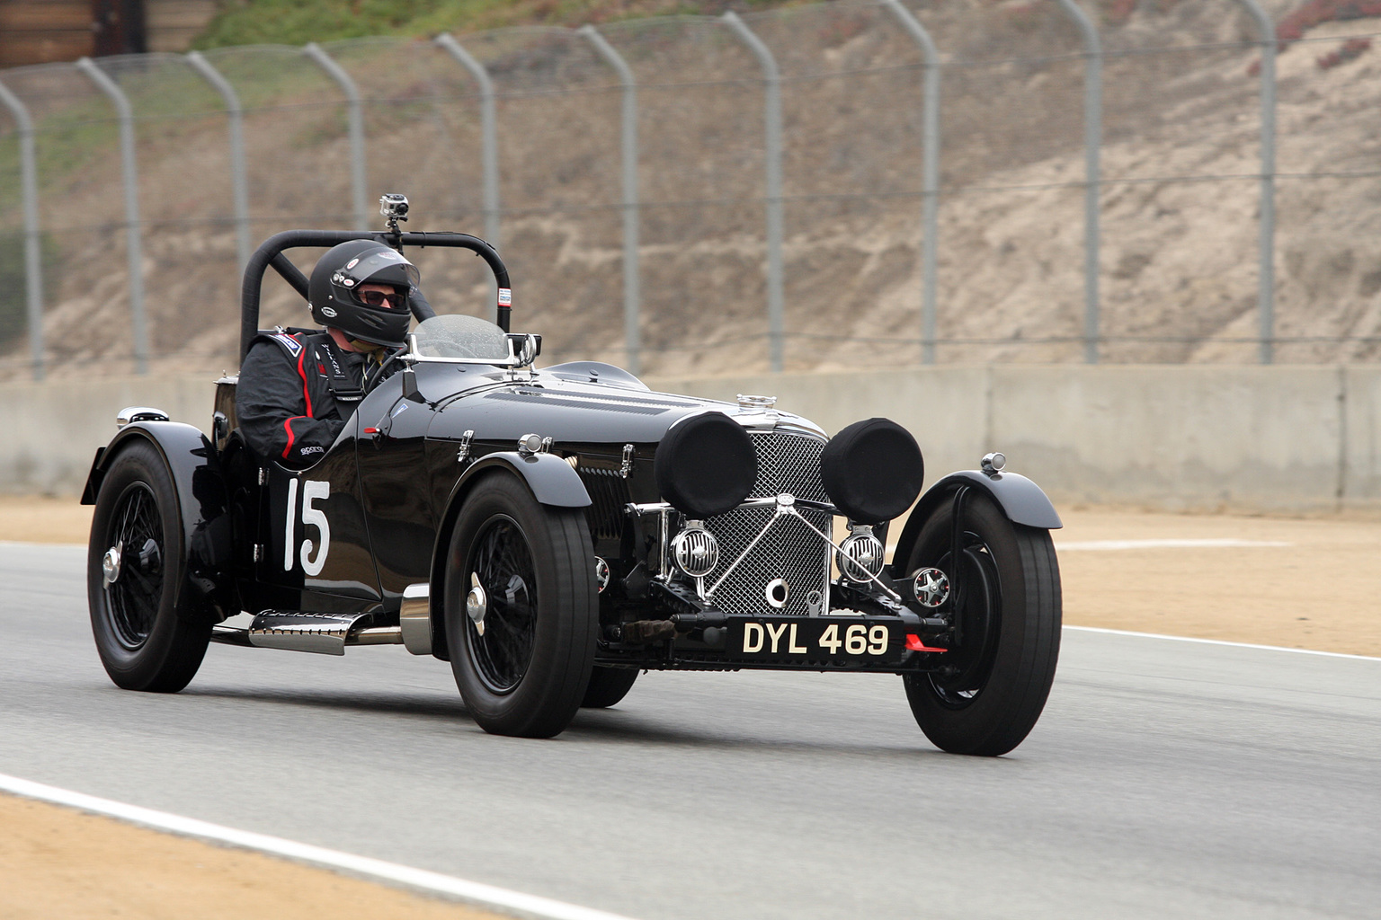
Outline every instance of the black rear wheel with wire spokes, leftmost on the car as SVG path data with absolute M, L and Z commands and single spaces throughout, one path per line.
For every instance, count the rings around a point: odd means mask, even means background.
M 113 582 L 102 567 L 113 560 Z M 202 666 L 211 621 L 175 608 L 186 577 L 182 516 L 163 457 L 148 441 L 120 448 L 97 495 L 87 600 L 101 663 L 124 690 L 175 694 Z

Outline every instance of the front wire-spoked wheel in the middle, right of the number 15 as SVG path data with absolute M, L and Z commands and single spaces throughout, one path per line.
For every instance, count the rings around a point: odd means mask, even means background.
M 465 612 L 472 575 L 486 594 L 483 634 Z M 443 597 L 450 668 L 479 727 L 563 731 L 586 695 L 599 628 L 584 513 L 539 505 L 516 477 L 489 473 L 456 519 Z

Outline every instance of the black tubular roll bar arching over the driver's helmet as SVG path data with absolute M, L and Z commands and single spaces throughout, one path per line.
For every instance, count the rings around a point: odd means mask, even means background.
M 373 240 L 374 243 L 381 243 L 384 246 L 392 247 L 402 251 L 405 246 L 416 246 L 417 248 L 425 248 L 428 246 L 450 247 L 457 250 L 470 250 L 479 258 L 482 258 L 494 273 L 494 280 L 499 281 L 499 327 L 507 332 L 510 324 L 510 313 L 512 308 L 512 288 L 508 281 L 508 269 L 504 266 L 504 261 L 499 258 L 499 252 L 494 247 L 489 246 L 478 236 L 470 236 L 468 233 L 371 233 L 367 230 L 283 230 L 282 233 L 275 233 L 273 236 L 264 240 L 254 255 L 250 257 L 249 263 L 244 266 L 244 283 L 240 287 L 240 361 L 244 361 L 244 356 L 249 354 L 250 342 L 258 335 L 258 308 L 260 295 L 264 287 L 264 272 L 269 266 L 278 272 L 284 281 L 287 281 L 294 291 L 307 299 L 307 276 L 302 274 L 296 265 L 293 265 L 283 252 L 287 250 L 296 250 L 301 247 L 320 247 L 330 248 L 333 246 L 340 246 L 341 243 L 349 243 L 351 240 Z M 425 316 L 424 316 L 425 313 Z M 420 303 L 413 305 L 413 316 L 418 320 L 431 319 L 434 313 L 429 309 L 423 309 Z

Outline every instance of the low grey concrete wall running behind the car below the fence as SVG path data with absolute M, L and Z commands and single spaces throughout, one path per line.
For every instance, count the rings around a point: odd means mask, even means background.
M 0 385 L 0 488 L 75 494 L 126 406 L 207 430 L 211 375 Z M 826 430 L 896 419 L 927 480 L 1001 450 L 1056 502 L 1381 510 L 1381 367 L 987 366 L 652 379 L 779 408 Z

